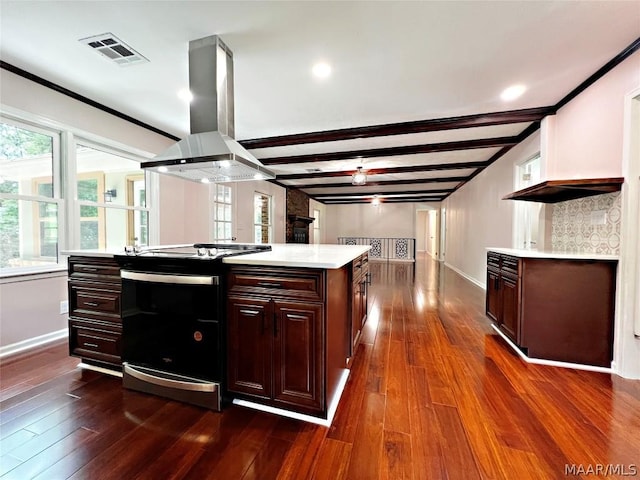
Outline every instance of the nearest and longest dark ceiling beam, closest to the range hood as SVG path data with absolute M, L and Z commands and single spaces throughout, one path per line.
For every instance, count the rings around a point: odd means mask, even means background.
M 555 113 L 553 107 L 536 107 L 522 110 L 508 110 L 504 112 L 480 113 L 459 117 L 416 120 L 412 122 L 389 123 L 386 125 L 372 125 L 367 127 L 324 130 L 320 132 L 296 133 L 277 137 L 254 138 L 240 140 L 240 144 L 247 149 L 270 148 L 300 145 L 303 143 L 335 142 L 338 140 L 353 140 L 356 138 L 436 132 L 440 130 L 487 127 L 511 123 L 528 123 L 540 121 L 547 115 L 553 113 Z

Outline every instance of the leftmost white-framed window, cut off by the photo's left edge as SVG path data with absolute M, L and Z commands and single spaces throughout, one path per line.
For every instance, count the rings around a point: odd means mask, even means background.
M 58 263 L 60 135 L 0 122 L 0 268 Z

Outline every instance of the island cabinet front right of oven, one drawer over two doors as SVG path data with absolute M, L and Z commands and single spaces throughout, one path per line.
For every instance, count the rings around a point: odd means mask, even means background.
M 229 392 L 301 413 L 325 412 L 324 285 L 321 270 L 231 269 Z

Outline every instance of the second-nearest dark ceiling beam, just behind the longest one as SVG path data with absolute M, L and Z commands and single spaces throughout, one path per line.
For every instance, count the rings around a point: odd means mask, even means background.
M 459 140 L 456 142 L 427 143 L 424 145 L 404 145 L 398 147 L 351 150 L 346 152 L 312 153 L 308 155 L 260 158 L 258 160 L 265 166 L 288 165 L 292 163 L 361 160 L 365 158 L 395 157 L 398 155 L 416 155 L 420 153 L 451 152 L 457 150 L 472 150 L 476 148 L 502 148 L 506 146 L 514 146 L 517 145 L 517 143 L 518 136 L 479 138 L 475 140 Z

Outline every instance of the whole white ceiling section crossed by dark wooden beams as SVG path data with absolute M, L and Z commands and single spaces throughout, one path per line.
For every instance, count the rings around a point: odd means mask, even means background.
M 276 182 L 325 204 L 439 202 L 540 128 L 555 107 L 241 141 Z M 384 145 L 384 146 L 381 146 Z M 365 185 L 353 185 L 353 165 Z M 301 173 L 304 172 L 304 173 Z

